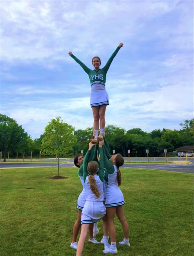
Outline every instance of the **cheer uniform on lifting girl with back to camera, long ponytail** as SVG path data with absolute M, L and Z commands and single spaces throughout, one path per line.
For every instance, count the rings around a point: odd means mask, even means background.
M 88 150 L 89 151 L 89 150 Z M 97 198 L 95 194 L 90 189 L 90 184 L 88 181 L 88 159 L 85 157 L 83 160 L 83 180 L 85 181 L 86 187 L 86 203 L 83 207 L 81 213 L 81 224 L 94 223 L 102 219 L 106 214 L 106 208 L 103 204 L 104 194 L 103 194 L 103 175 L 104 175 L 104 161 L 103 161 L 103 149 L 99 148 L 100 161 L 99 161 L 99 171 L 97 174 L 93 175 L 96 181 L 96 186 L 100 193 L 100 197 Z M 86 154 L 87 156 L 87 154 Z

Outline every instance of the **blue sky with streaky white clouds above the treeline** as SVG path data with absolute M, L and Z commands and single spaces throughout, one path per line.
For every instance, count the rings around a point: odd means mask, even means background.
M 88 75 L 104 67 L 106 125 L 127 130 L 181 129 L 193 118 L 192 0 L 1 0 L 0 113 L 34 139 L 58 116 L 92 127 Z

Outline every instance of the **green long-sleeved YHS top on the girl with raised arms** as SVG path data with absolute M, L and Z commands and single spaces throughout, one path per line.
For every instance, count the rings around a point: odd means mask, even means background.
M 108 61 L 106 62 L 106 65 L 102 68 L 102 69 L 98 69 L 98 71 L 89 69 L 85 64 L 83 64 L 83 62 L 81 62 L 81 60 L 79 60 L 77 57 L 75 57 L 73 54 L 71 55 L 71 57 L 83 68 L 83 70 L 88 74 L 89 76 L 89 80 L 90 80 L 90 85 L 92 87 L 92 85 L 94 85 L 95 83 L 104 85 L 105 87 L 105 83 L 106 83 L 106 73 L 113 61 L 113 59 L 115 58 L 115 56 L 117 55 L 117 52 L 120 50 L 120 46 L 118 46 L 116 48 L 116 50 L 113 52 L 113 54 L 111 55 L 111 57 L 108 59 Z

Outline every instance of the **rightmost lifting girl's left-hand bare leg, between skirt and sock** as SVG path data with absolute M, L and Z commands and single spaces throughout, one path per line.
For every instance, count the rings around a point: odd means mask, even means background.
M 116 207 L 107 207 L 106 216 L 108 221 L 108 231 L 111 238 L 111 242 L 116 242 L 116 230 L 115 230 L 115 217 Z

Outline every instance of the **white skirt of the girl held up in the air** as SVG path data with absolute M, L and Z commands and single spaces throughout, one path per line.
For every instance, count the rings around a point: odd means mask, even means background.
M 109 105 L 108 93 L 106 90 L 91 90 L 90 106 Z

